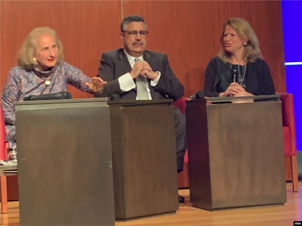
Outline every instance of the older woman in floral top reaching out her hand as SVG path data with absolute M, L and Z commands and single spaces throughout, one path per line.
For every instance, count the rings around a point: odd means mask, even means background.
M 18 54 L 18 65 L 9 71 L 3 88 L 1 104 L 9 147 L 16 144 L 15 101 L 30 95 L 66 91 L 67 84 L 97 94 L 105 83 L 98 77 L 89 78 L 64 62 L 63 45 L 55 30 L 49 27 L 33 29 L 24 40 Z

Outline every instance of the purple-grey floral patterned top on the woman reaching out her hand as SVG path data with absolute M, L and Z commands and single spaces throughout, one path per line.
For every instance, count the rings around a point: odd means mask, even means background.
M 67 84 L 92 93 L 85 85 L 91 78 L 66 62 L 57 62 L 46 72 L 34 68 L 31 71 L 19 66 L 11 68 L 3 88 L 1 105 L 3 109 L 6 141 L 9 147 L 16 147 L 15 101 L 22 101 L 30 95 L 41 95 L 66 91 Z

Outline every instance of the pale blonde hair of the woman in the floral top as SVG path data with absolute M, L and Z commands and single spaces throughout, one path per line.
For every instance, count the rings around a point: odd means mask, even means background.
M 25 70 L 32 70 L 35 66 L 33 58 L 36 55 L 36 40 L 43 34 L 50 34 L 56 41 L 58 48 L 57 61 L 61 62 L 64 60 L 63 55 L 63 44 L 58 39 L 56 31 L 50 27 L 36 27 L 25 38 L 18 54 L 18 65 L 20 68 Z

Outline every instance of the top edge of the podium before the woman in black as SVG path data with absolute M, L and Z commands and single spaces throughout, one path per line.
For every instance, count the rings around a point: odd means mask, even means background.
M 275 95 L 260 95 L 260 96 L 228 96 L 228 97 L 206 97 L 202 99 L 194 99 L 194 100 L 187 100 L 186 103 L 193 101 L 193 102 L 229 102 L 229 101 L 234 101 L 234 100 L 254 100 L 255 102 L 257 101 L 278 101 L 280 98 L 279 94 Z

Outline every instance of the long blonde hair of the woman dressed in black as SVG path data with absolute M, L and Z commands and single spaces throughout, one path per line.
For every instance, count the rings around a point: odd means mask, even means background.
M 222 34 L 220 36 L 220 44 L 222 48 L 218 53 L 218 57 L 224 63 L 230 62 L 231 58 L 231 53 L 225 50 L 223 42 L 224 31 L 227 25 L 231 26 L 237 32 L 237 35 L 241 39 L 248 40 L 243 50 L 243 59 L 246 62 L 255 62 L 256 58 L 262 58 L 262 53 L 259 48 L 259 42 L 251 25 L 245 19 L 236 17 L 228 19 L 222 26 Z

